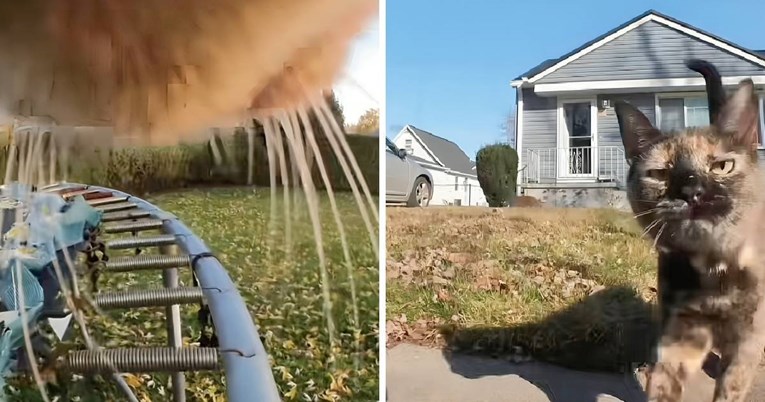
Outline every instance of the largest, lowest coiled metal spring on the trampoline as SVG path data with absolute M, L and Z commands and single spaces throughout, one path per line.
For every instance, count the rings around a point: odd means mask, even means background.
M 63 366 L 75 372 L 181 372 L 220 369 L 220 357 L 215 348 L 124 348 L 99 351 L 70 352 Z

